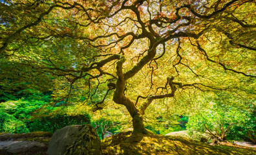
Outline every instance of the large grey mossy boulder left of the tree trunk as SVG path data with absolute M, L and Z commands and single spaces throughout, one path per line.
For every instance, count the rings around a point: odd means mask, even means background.
M 102 154 L 100 138 L 91 125 L 70 125 L 56 130 L 47 155 Z

